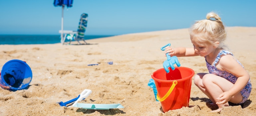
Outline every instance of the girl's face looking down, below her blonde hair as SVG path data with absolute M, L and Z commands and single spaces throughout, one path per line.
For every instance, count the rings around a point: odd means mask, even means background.
M 212 53 L 214 51 L 215 47 L 212 44 L 210 44 L 208 42 L 205 42 L 205 43 L 202 43 L 202 44 L 198 45 L 195 42 L 195 39 L 196 38 L 191 39 L 191 42 L 194 46 L 194 51 L 199 56 L 207 56 L 207 55 L 209 55 L 210 53 Z

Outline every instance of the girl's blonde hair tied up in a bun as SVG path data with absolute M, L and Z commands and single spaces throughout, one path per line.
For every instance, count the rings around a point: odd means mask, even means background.
M 214 12 L 208 13 L 206 19 L 196 21 L 189 31 L 190 38 L 196 38 L 195 42 L 198 45 L 208 42 L 218 48 L 227 48 L 224 44 L 227 37 L 225 27 L 220 20 L 220 17 Z M 216 43 L 217 41 L 219 44 Z

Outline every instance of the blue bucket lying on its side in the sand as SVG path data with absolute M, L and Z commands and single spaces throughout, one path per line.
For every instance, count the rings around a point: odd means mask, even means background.
M 32 80 L 31 68 L 21 60 L 8 61 L 0 74 L 0 86 L 12 91 L 26 89 Z

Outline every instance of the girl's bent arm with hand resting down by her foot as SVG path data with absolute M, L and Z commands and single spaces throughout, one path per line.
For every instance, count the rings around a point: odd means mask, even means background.
M 230 90 L 227 92 L 228 94 L 220 94 L 219 98 L 217 100 L 225 102 L 228 97 L 232 97 L 239 93 L 248 83 L 250 79 L 249 73 L 236 61 L 236 59 L 232 55 L 223 55 L 218 64 L 219 68 L 221 70 L 225 70 L 236 77 L 238 77 L 237 81 L 235 82 L 234 86 L 230 88 Z M 224 97 L 223 97 L 224 96 Z M 226 99 L 226 100 L 225 100 Z M 226 101 L 226 102 L 227 102 Z M 222 104 L 222 102 L 219 102 L 217 104 Z

